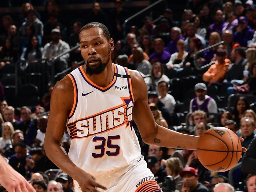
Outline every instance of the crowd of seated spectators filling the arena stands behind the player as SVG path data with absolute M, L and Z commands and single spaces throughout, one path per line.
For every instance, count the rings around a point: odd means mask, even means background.
M 84 24 L 101 22 L 108 26 L 115 42 L 115 49 L 111 51 L 112 62 L 138 70 L 144 77 L 149 107 L 157 124 L 196 136 L 213 126 L 227 127 L 244 138 L 242 146 L 248 148 L 243 160 L 239 161 L 242 162 L 241 169 L 233 172 L 231 186 L 228 184 L 229 172 L 207 170 L 199 162 L 196 151 L 146 145 L 134 123 L 142 155 L 159 185 L 164 186 L 165 177 L 171 176 L 175 188 L 181 192 L 234 191 L 234 188 L 252 192 L 256 190 L 254 3 L 251 0 L 226 0 L 222 3 L 218 0 L 190 0 L 177 21 L 173 20 L 173 7 L 169 4 L 156 23 L 149 16 L 144 18 L 143 27 L 131 22 L 126 36 L 123 36 L 122 24 L 131 15 L 122 0 L 116 0 L 115 8 L 109 12 L 102 10 L 99 2 L 92 3 L 85 23 L 76 20 L 73 26 L 68 26 L 73 28 L 70 35 L 59 20 L 61 11 L 54 0 L 45 1 L 44 12 L 38 12 L 29 2 L 24 3 L 18 18 L 10 15 L 1 18 L 0 74 L 4 67 L 18 60 L 26 60 L 28 64 L 44 58 L 54 60 L 79 44 L 78 32 Z M 221 41 L 225 44 L 194 56 L 203 48 Z M 54 60 L 55 72 L 68 67 L 75 69 L 82 60 L 78 47 Z M 209 63 L 210 67 L 199 70 Z M 175 82 L 180 83 L 178 87 L 175 87 Z M 40 104 L 20 108 L 8 106 L 2 86 L 0 88 L 3 99 L 0 102 L 0 154 L 30 180 L 37 192 L 73 191 L 72 178 L 62 173 L 44 151 L 53 86 L 40 95 Z M 228 106 L 227 98 L 233 93 L 243 95 L 237 96 L 232 106 Z M 69 146 L 70 138 L 65 132 L 61 147 L 68 153 Z M 50 169 L 56 171 L 47 172 Z

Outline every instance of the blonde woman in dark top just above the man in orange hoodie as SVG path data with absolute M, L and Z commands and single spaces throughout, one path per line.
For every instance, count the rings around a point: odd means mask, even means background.
M 219 43 L 221 41 L 220 34 L 218 32 L 212 32 L 209 36 L 209 46 Z M 213 47 L 212 49 L 208 49 L 204 52 L 204 56 L 199 58 L 197 62 L 199 64 L 208 64 L 213 59 L 214 55 L 217 52 L 219 46 Z

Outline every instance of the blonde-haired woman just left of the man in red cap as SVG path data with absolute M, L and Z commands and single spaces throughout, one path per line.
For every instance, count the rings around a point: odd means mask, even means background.
M 171 175 L 175 181 L 175 189 L 181 191 L 183 179 L 179 172 L 183 170 L 183 165 L 178 157 L 171 157 L 165 162 L 165 171 L 167 175 Z

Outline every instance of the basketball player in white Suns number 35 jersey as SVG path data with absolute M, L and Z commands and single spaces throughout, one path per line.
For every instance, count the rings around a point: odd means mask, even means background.
M 106 26 L 88 23 L 79 39 L 85 64 L 52 91 L 47 156 L 73 177 L 76 192 L 160 192 L 141 156 L 132 118 L 147 144 L 194 150 L 199 137 L 155 124 L 143 77 L 111 62 L 114 41 Z M 68 155 L 60 148 L 65 127 L 71 138 Z

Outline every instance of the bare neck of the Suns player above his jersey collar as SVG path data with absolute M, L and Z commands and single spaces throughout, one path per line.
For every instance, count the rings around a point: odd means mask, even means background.
M 84 68 L 83 68 L 84 69 Z M 85 70 L 84 70 L 85 71 Z M 95 84 L 97 84 L 100 87 L 106 87 L 108 86 L 114 76 L 115 67 L 114 64 L 110 63 L 106 66 L 105 70 L 100 74 L 93 74 L 89 76 L 86 74 L 86 76 Z

